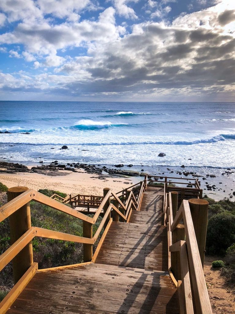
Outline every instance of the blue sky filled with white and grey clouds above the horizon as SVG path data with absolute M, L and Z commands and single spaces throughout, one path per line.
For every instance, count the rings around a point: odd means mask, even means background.
M 0 100 L 235 101 L 235 1 L 0 0 Z

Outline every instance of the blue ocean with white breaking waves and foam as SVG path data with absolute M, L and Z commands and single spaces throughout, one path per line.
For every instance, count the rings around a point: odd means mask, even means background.
M 0 101 L 0 131 L 23 163 L 235 167 L 235 103 Z

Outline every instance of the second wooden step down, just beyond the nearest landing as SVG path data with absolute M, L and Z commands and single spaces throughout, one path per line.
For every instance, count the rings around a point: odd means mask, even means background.
M 167 227 L 112 222 L 96 262 L 166 271 Z

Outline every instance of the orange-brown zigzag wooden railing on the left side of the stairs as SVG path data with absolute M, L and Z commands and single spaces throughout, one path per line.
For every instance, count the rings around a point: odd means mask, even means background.
M 132 210 L 139 210 L 140 208 L 144 189 L 144 182 L 139 184 L 138 193 L 134 194 L 132 190 L 128 189 L 126 191 L 127 198 L 125 198 L 124 201 L 122 201 L 111 189 L 104 189 L 104 197 L 97 208 L 96 214 L 93 217 L 89 217 L 56 201 L 55 199 L 57 199 L 57 197 L 52 199 L 33 189 L 25 187 L 10 188 L 8 190 L 8 203 L 0 207 L 0 222 L 8 217 L 10 219 L 11 246 L 0 255 L 0 271 L 10 261 L 13 261 L 15 285 L 0 303 L 1 314 L 8 310 L 13 304 L 13 301 L 18 297 L 20 292 L 38 270 L 38 264 L 33 262 L 32 240 L 34 237 L 46 237 L 82 243 L 83 261 L 85 263 L 93 263 L 96 260 L 112 221 L 119 221 L 120 219 L 120 221 L 128 222 Z M 122 193 L 119 194 L 122 195 Z M 83 221 L 83 236 L 74 236 L 63 232 L 31 226 L 29 202 L 32 200 L 81 219 Z M 93 236 L 92 226 L 96 223 L 102 211 L 104 213 L 102 221 Z M 99 235 L 103 228 L 103 235 L 93 255 L 93 245 L 99 239 Z M 78 266 L 81 264 L 76 265 Z M 69 265 L 66 265 L 66 267 L 68 266 Z M 40 271 L 44 270 L 42 269 Z

